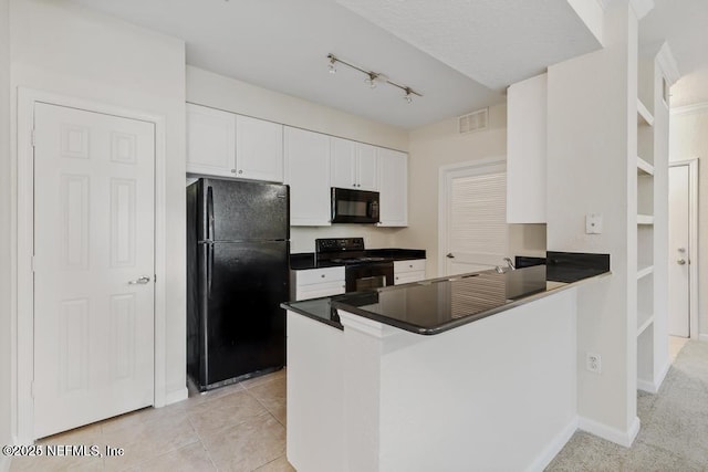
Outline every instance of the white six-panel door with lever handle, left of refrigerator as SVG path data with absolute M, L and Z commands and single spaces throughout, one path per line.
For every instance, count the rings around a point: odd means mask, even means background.
M 34 108 L 34 437 L 153 405 L 155 126 Z

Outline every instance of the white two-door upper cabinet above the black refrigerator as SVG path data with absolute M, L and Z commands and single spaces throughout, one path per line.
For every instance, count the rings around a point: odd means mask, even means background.
M 283 126 L 187 104 L 187 171 L 283 181 Z

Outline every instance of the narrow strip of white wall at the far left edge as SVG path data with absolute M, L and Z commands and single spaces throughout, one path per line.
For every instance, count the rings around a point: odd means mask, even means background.
M 0 0 L 0 444 L 10 444 L 10 10 Z M 0 458 L 0 470 L 3 470 Z

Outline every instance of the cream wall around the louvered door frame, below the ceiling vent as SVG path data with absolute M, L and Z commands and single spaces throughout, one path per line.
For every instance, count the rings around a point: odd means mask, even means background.
M 399 245 L 425 248 L 428 277 L 438 275 L 438 170 L 441 166 L 507 154 L 507 107 L 489 108 L 489 128 L 460 135 L 457 118 L 410 133 L 408 228 L 396 234 Z M 510 255 L 545 255 L 544 224 L 510 224 Z M 500 261 L 501 262 L 501 261 Z

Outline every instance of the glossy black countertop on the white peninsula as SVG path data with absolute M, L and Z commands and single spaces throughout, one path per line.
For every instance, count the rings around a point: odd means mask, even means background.
M 610 274 L 608 255 L 605 260 L 605 254 L 596 254 L 601 258 L 591 258 L 583 266 L 564 254 L 549 252 L 548 266 L 501 274 L 475 272 L 281 306 L 340 329 L 337 308 L 412 333 L 435 335 Z

